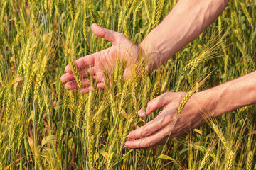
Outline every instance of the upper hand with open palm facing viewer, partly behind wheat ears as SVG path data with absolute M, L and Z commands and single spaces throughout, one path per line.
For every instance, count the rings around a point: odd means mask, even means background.
M 87 93 L 94 91 L 87 79 L 87 72 L 92 74 L 97 83 L 97 89 L 105 88 L 105 79 L 103 69 L 111 73 L 114 70 L 115 61 L 117 57 L 120 61 L 127 61 L 127 66 L 124 69 L 124 79 L 128 79 L 132 76 L 132 67 L 139 61 L 139 47 L 134 45 L 124 34 L 114 32 L 113 30 L 107 30 L 101 28 L 97 24 L 92 24 L 92 32 L 95 35 L 109 40 L 112 42 L 112 47 L 95 52 L 92 55 L 81 57 L 74 62 L 75 67 L 78 69 L 80 79 L 82 81 L 82 92 Z M 60 77 L 60 80 L 65 83 L 65 89 L 77 89 L 78 84 L 73 77 L 70 66 L 65 67 L 65 74 Z

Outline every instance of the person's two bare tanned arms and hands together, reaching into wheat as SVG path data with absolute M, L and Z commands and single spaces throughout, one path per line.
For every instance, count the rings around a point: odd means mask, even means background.
M 87 72 L 93 74 L 98 89 L 105 88 L 102 70 L 112 72 L 117 56 L 127 60 L 124 79 L 132 76 L 132 66 L 139 63 L 140 52 L 146 56 L 150 72 L 160 67 L 213 23 L 227 4 L 227 0 L 179 0 L 164 21 L 151 30 L 140 45 L 134 45 L 122 33 L 92 24 L 92 32 L 112 42 L 112 47 L 75 61 L 82 78 L 82 92 L 94 90 L 86 79 Z M 69 66 L 65 67 L 65 72 L 60 78 L 65 83 L 65 89 L 78 88 Z M 147 107 L 138 112 L 139 116 L 149 115 L 158 108 L 163 110 L 154 120 L 129 132 L 124 148 L 153 147 L 165 142 L 185 95 L 185 92 L 170 92 L 149 101 Z M 193 130 L 204 123 L 206 118 L 217 117 L 253 103 L 256 103 L 256 72 L 193 94 L 178 116 L 171 137 Z

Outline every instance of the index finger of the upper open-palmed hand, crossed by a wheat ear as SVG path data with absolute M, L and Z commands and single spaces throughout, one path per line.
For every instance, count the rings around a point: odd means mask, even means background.
M 85 57 L 81 57 L 78 60 L 75 60 L 74 64 L 76 69 L 85 69 L 86 67 L 91 67 L 93 64 L 95 64 L 95 57 L 99 57 L 101 52 L 95 52 L 92 55 L 87 55 Z M 70 66 L 67 65 L 65 67 L 65 72 L 72 72 L 70 69 Z

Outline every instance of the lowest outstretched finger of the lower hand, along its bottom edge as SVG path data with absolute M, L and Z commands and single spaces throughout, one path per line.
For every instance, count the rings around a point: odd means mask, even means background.
M 127 142 L 124 143 L 124 148 L 153 147 L 166 141 L 166 135 L 166 128 L 162 128 L 161 130 L 155 132 L 153 135 L 150 135 L 149 137 L 144 137 L 139 140 L 127 140 Z

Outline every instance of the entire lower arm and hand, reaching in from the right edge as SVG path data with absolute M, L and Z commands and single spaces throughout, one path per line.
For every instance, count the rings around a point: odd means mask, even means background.
M 130 132 L 124 147 L 152 147 L 165 142 L 176 120 L 178 106 L 185 95 L 186 93 L 183 92 L 165 93 L 149 101 L 146 111 L 143 109 L 139 111 L 139 116 L 149 115 L 158 108 L 163 108 L 163 111 L 154 120 Z M 197 128 L 206 121 L 206 118 L 217 117 L 255 103 L 256 71 L 193 94 L 178 116 L 171 137 L 183 135 Z

